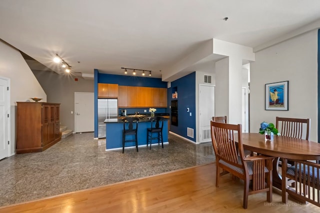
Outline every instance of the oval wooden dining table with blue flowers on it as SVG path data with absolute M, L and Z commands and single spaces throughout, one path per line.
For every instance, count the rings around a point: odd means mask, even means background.
M 237 138 L 237 137 L 235 137 Z M 243 148 L 262 155 L 294 160 L 320 160 L 320 144 L 298 138 L 274 136 L 265 141 L 259 133 L 242 133 Z M 272 185 L 281 190 L 281 176 L 277 172 L 277 161 L 273 161 Z

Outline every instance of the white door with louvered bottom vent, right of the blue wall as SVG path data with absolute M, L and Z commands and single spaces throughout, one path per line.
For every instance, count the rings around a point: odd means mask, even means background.
M 211 141 L 210 121 L 214 116 L 214 86 L 199 85 L 199 142 Z

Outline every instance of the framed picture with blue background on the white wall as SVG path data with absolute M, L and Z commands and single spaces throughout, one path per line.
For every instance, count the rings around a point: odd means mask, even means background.
M 265 110 L 289 110 L 289 81 L 265 84 Z

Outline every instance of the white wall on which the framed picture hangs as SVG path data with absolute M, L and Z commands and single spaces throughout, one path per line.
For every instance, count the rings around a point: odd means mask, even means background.
M 250 132 L 276 116 L 310 118 L 309 140 L 317 141 L 317 30 L 256 52 L 250 65 Z M 286 80 L 289 110 L 264 110 L 264 84 Z

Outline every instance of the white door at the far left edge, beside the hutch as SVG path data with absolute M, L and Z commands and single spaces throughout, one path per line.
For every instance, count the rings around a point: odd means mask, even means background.
M 9 156 L 9 80 L 0 77 L 0 159 Z

